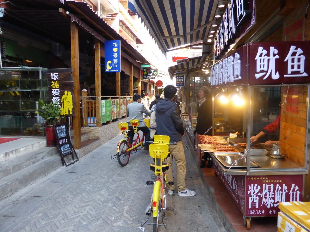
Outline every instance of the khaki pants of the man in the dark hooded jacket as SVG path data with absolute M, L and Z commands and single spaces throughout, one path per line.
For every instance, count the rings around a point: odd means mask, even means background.
M 185 154 L 182 141 L 177 142 L 176 145 L 169 145 L 170 157 L 166 159 L 166 163 L 169 165 L 169 169 L 166 171 L 167 182 L 173 181 L 172 177 L 172 157 L 174 157 L 176 162 L 176 178 L 178 184 L 178 191 L 184 191 L 186 189 L 185 185 Z M 174 185 L 167 184 L 168 190 L 174 190 Z

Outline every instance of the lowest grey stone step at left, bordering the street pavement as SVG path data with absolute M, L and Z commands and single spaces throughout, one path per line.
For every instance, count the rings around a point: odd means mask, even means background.
M 6 198 L 21 188 L 33 183 L 47 173 L 62 167 L 59 154 L 47 157 L 40 162 L 0 179 L 0 200 Z

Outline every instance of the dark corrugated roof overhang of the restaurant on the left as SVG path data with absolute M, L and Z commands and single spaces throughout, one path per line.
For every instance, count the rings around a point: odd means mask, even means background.
M 70 42 L 70 21 L 65 19 L 59 12 L 59 8 L 63 8 L 65 11 L 81 17 L 81 21 L 108 40 L 120 40 L 124 51 L 126 50 L 135 60 L 139 60 L 142 64 L 148 63 L 131 44 L 100 18 L 86 2 L 64 1 L 63 4 L 60 0 L 14 0 L 14 3 L 18 3 L 24 9 L 18 10 L 16 7 L 6 9 L 5 16 L 2 18 L 3 21 L 18 25 L 20 28 L 51 38 L 57 42 L 68 43 Z M 86 17 L 82 16 L 81 12 Z M 94 22 L 97 26 L 91 22 Z M 82 37 L 88 35 L 84 32 L 80 34 Z

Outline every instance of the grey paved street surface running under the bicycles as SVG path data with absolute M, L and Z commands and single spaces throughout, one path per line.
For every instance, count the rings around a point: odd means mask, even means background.
M 78 162 L 61 167 L 35 183 L 0 201 L 1 232 L 86 232 L 86 231 L 153 231 L 145 209 L 150 204 L 153 186 L 149 164 L 153 159 L 148 151 L 138 150 L 129 163 L 121 167 L 116 145 L 123 138 L 118 135 Z M 206 187 L 194 165 L 194 158 L 186 146 L 186 184 L 196 196 L 166 196 L 167 207 L 158 231 L 226 232 L 206 194 Z M 175 164 L 173 174 L 176 174 Z M 176 183 L 176 180 L 175 180 Z M 149 219 L 152 222 L 153 218 Z

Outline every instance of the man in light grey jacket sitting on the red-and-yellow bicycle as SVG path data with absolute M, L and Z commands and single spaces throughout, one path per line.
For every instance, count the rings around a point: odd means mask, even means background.
M 146 107 L 141 104 L 141 95 L 135 94 L 133 96 L 133 103 L 130 103 L 127 105 L 127 115 L 129 117 L 130 121 L 131 119 L 137 119 L 141 122 L 139 122 L 139 127 L 138 130 L 144 132 L 145 135 L 145 140 L 144 140 L 144 150 L 148 150 L 148 143 L 146 141 L 150 141 L 150 129 L 145 125 L 145 122 L 143 120 L 143 113 L 151 116 L 150 111 L 146 109 Z M 129 136 L 129 141 L 132 144 L 132 141 L 134 139 L 134 128 L 132 126 L 128 125 L 128 129 L 131 131 L 131 133 L 128 135 Z

